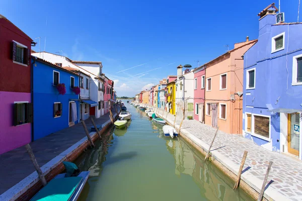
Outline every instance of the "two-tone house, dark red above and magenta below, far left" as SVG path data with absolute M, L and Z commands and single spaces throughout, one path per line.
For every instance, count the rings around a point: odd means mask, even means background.
M 33 40 L 0 15 L 0 154 L 32 141 Z

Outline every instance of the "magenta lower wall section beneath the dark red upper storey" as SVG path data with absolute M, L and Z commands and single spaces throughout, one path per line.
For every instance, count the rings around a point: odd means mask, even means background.
M 31 142 L 31 124 L 13 126 L 14 102 L 30 100 L 30 93 L 0 91 L 0 154 Z

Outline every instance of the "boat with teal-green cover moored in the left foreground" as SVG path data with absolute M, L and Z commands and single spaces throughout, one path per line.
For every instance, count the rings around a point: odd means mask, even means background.
M 79 198 L 81 191 L 87 182 L 90 171 L 83 171 L 80 173 L 80 170 L 74 163 L 63 161 L 63 164 L 65 167 L 65 164 L 69 166 L 69 169 L 66 167 L 67 173 L 55 176 L 46 186 L 37 192 L 33 198 L 30 199 L 31 201 L 75 201 Z M 73 166 L 73 168 L 71 168 L 71 166 Z M 73 173 L 71 174 L 70 171 Z

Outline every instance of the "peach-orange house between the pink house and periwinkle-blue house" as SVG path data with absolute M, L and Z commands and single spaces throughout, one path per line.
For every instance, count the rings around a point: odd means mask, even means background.
M 234 49 L 205 63 L 205 124 L 225 133 L 242 133 L 243 55 L 257 40 L 236 43 Z

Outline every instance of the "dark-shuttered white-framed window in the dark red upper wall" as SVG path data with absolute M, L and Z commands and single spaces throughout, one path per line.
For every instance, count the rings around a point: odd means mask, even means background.
M 24 66 L 29 65 L 30 52 L 27 46 L 13 41 L 13 63 L 18 63 Z

